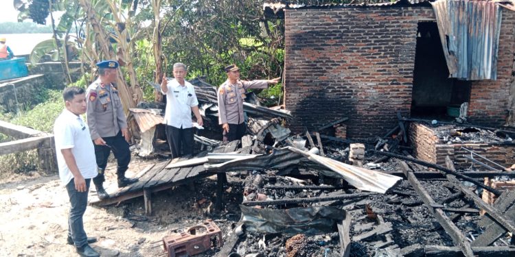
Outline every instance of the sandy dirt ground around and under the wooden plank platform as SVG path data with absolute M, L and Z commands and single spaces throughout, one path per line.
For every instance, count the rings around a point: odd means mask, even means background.
M 155 160 L 133 160 L 128 176 Z M 115 164 L 108 164 L 106 183 L 115 182 Z M 240 219 L 240 183 L 229 178 L 224 210 L 212 210 L 216 177 L 152 195 L 153 215 L 144 215 L 143 197 L 117 205 L 88 206 L 84 227 L 98 241 L 101 256 L 165 256 L 162 238 L 172 230 L 213 219 L 227 238 Z M 91 185 L 90 196 L 94 195 Z M 0 256 L 78 256 L 66 244 L 69 199 L 58 174 L 3 174 L 0 180 Z M 200 256 L 213 256 L 218 249 Z

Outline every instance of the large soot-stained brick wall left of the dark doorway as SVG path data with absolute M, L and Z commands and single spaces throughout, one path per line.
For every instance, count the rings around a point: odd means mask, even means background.
M 292 128 L 348 117 L 347 137 L 384 134 L 409 114 L 417 23 L 430 7 L 286 10 Z

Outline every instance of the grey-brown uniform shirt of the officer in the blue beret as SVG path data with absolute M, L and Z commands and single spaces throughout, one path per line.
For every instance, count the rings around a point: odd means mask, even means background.
M 87 121 L 91 139 L 116 136 L 127 127 L 124 106 L 118 90 L 97 79 L 87 89 Z

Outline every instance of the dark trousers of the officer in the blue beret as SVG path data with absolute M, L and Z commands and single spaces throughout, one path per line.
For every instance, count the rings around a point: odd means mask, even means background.
M 122 132 L 118 132 L 116 136 L 108 136 L 104 139 L 106 145 L 95 145 L 95 158 L 97 159 L 98 175 L 93 178 L 95 185 L 101 185 L 106 179 L 104 177 L 104 171 L 106 170 L 107 160 L 111 150 L 115 155 L 117 161 L 116 174 L 118 178 L 125 176 L 125 171 L 128 169 L 130 162 L 130 149 L 127 141 Z

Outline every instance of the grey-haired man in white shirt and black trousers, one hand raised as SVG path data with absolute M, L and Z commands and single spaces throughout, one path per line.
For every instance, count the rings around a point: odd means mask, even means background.
M 174 64 L 174 79 L 168 80 L 163 76 L 161 93 L 166 95 L 166 138 L 172 158 L 193 155 L 193 122 L 192 111 L 196 122 L 202 126 L 201 112 L 198 111 L 198 101 L 195 88 L 184 80 L 187 73 L 186 65 L 181 62 Z M 183 153 L 181 153 L 183 150 Z

